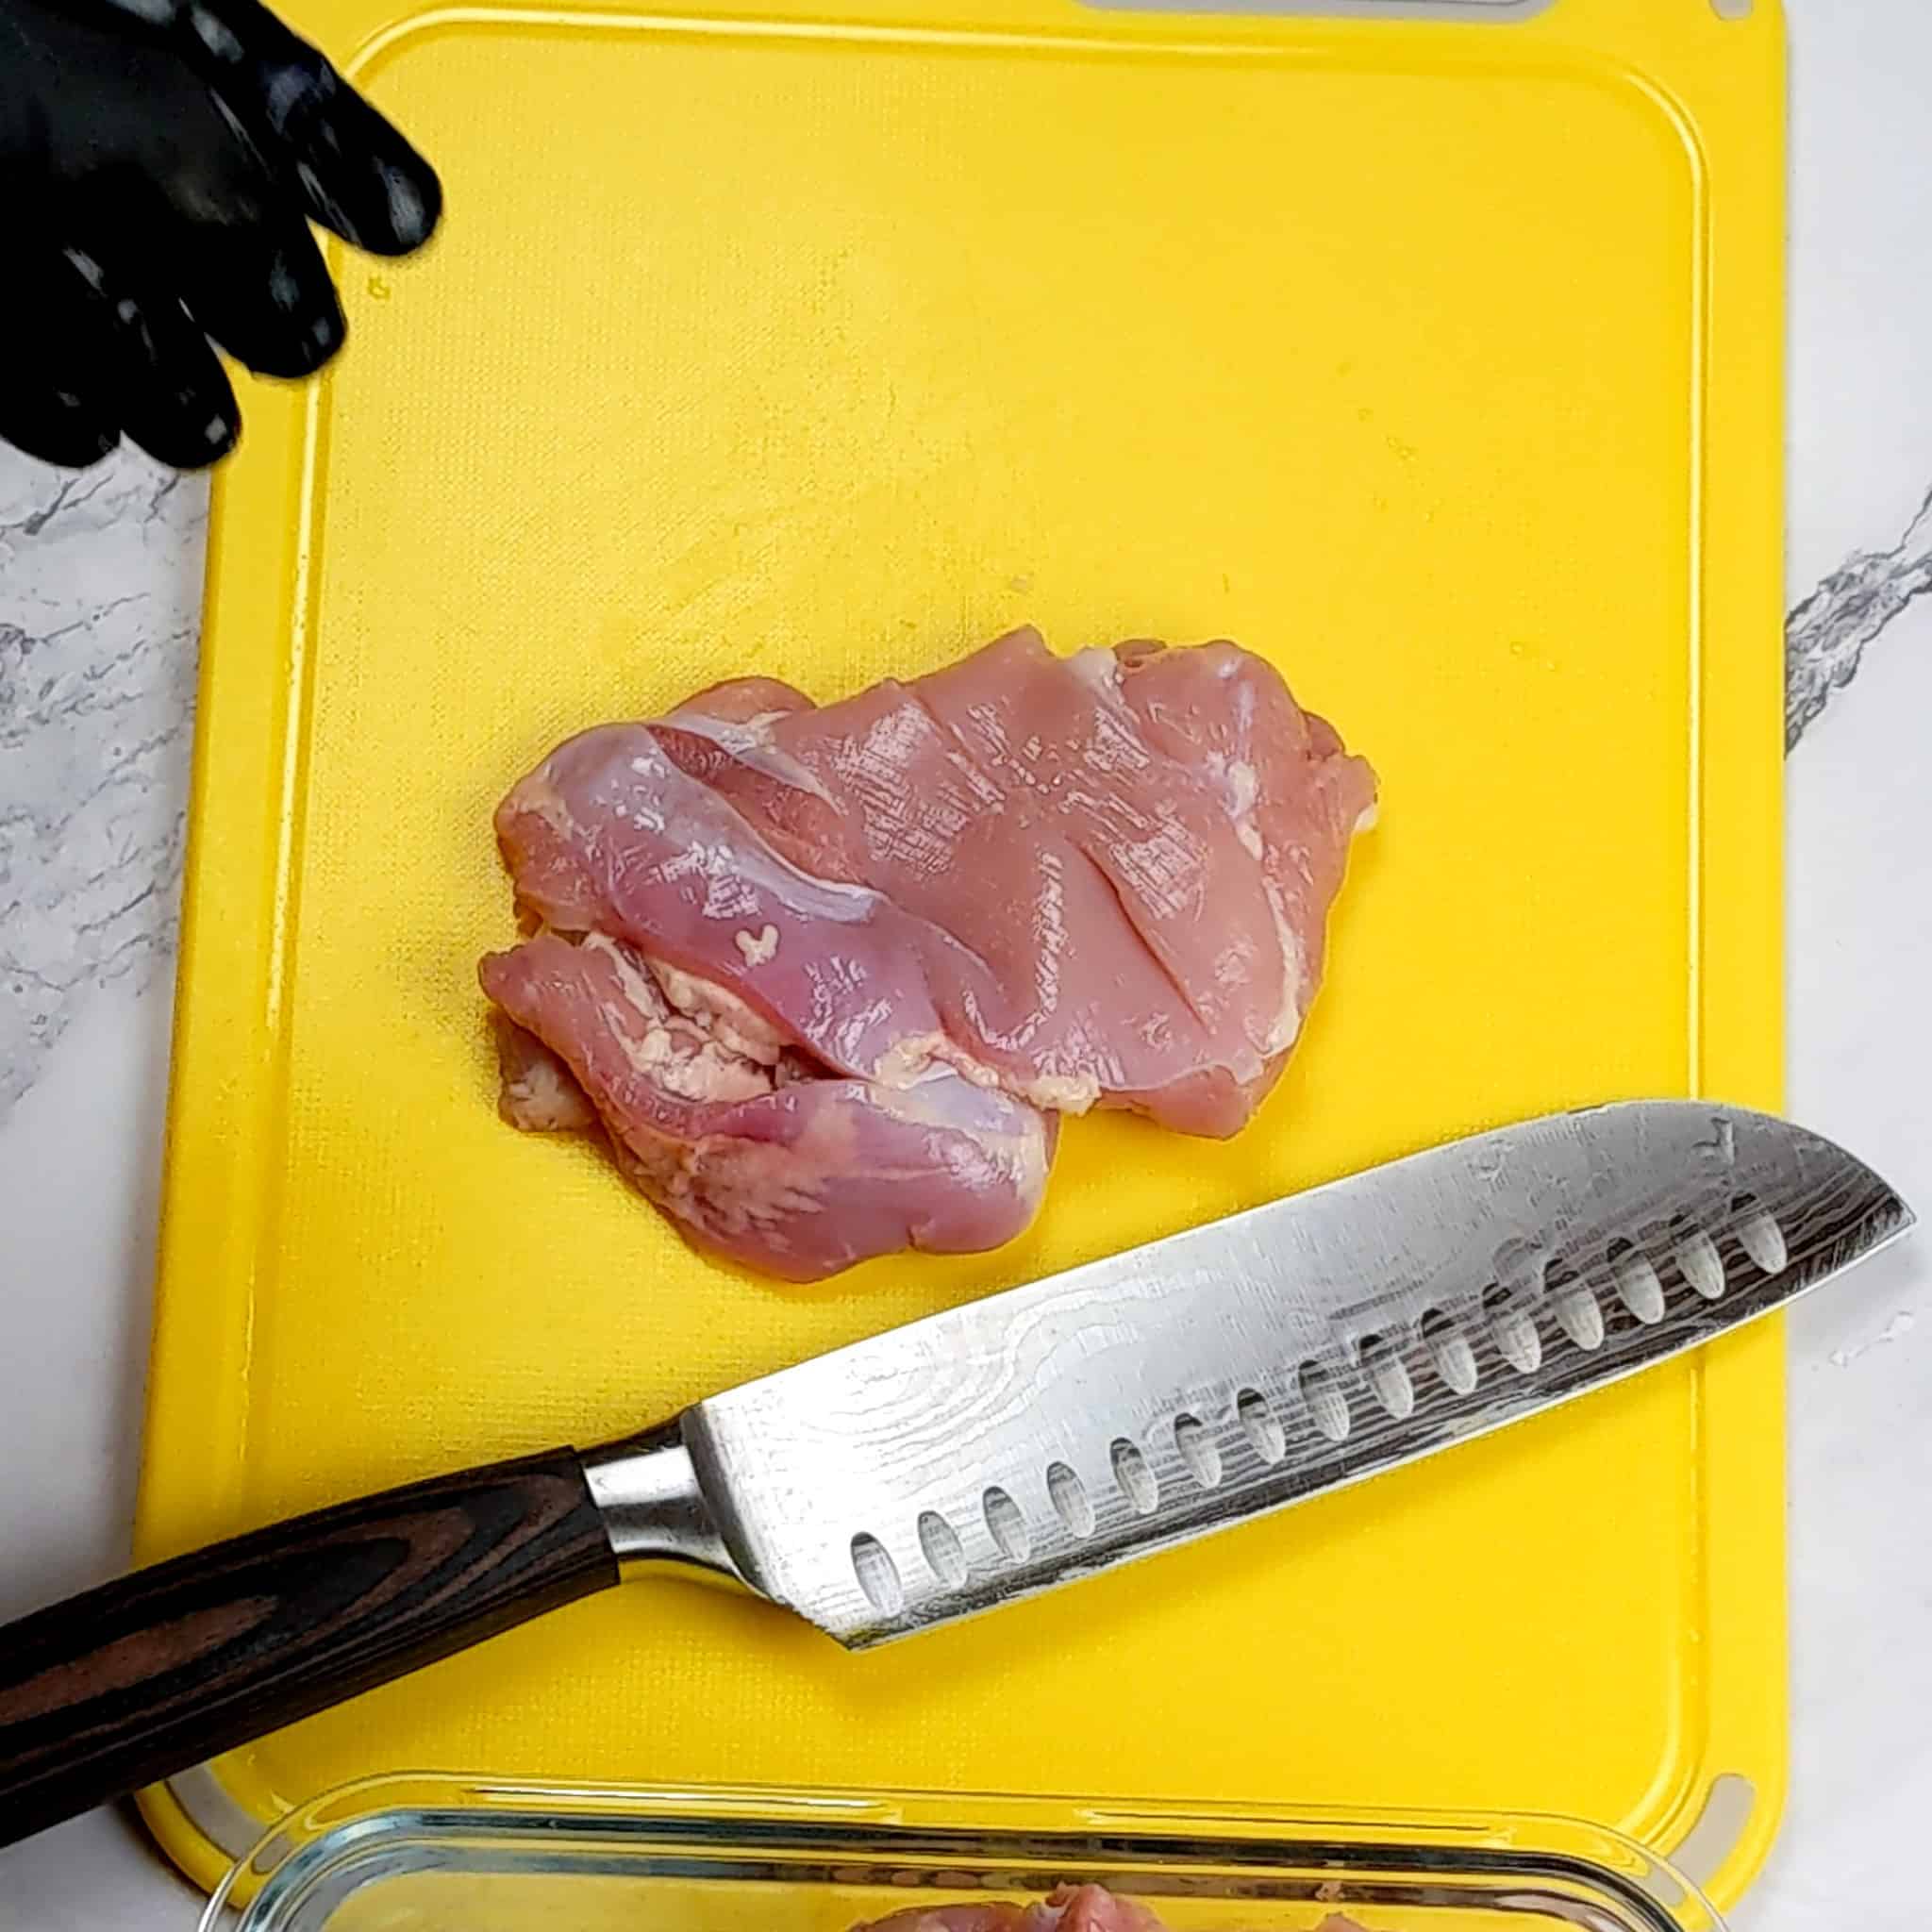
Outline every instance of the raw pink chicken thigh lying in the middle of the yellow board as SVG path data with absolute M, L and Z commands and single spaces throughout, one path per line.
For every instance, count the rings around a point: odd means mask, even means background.
M 572 738 L 497 811 L 504 1115 L 601 1121 L 696 1238 L 796 1281 L 997 1246 L 1059 1115 L 1240 1128 L 1321 976 L 1368 765 L 1233 643 L 1020 630 L 815 707 L 740 678 Z

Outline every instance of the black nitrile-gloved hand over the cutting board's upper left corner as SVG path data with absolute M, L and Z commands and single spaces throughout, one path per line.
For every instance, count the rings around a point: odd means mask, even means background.
M 309 222 L 404 255 L 431 166 L 257 0 L 0 0 L 0 439 L 189 469 L 342 344 Z

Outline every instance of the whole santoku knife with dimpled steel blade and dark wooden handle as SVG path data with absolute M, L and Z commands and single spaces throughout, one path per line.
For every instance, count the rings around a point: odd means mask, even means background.
M 951 1623 L 1633 1376 L 1911 1221 L 1768 1115 L 1551 1115 L 272 1524 L 0 1631 L 0 1843 L 667 1565 L 852 1648 Z

